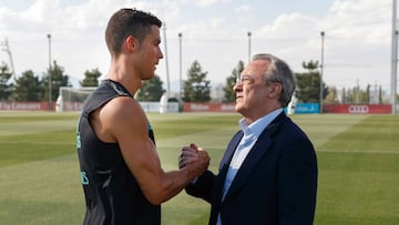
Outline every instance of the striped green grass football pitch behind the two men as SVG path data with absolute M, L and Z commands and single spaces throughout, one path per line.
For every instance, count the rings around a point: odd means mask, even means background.
M 197 143 L 218 162 L 238 130 L 235 113 L 147 114 L 162 166 L 177 167 Z M 134 115 L 133 115 L 134 116 Z M 399 224 L 399 116 L 295 114 L 317 151 L 316 225 Z M 78 113 L 0 112 L 0 224 L 82 224 L 75 150 Z M 182 192 L 162 206 L 163 225 L 207 224 L 209 205 Z

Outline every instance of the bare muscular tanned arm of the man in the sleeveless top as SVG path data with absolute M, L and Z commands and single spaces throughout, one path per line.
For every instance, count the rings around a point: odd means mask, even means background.
M 117 142 L 123 158 L 145 197 L 158 205 L 178 194 L 202 174 L 209 158 L 206 152 L 180 171 L 164 172 L 155 146 L 149 137 L 147 119 L 131 98 L 116 98 L 94 114 L 96 133 L 105 142 Z

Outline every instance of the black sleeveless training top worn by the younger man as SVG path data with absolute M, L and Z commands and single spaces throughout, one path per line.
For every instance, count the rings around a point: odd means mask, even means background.
M 90 114 L 119 96 L 133 98 L 120 83 L 103 81 L 86 99 L 79 119 L 76 149 L 86 204 L 83 224 L 158 225 L 161 206 L 145 198 L 119 144 L 100 141 L 90 125 Z M 150 124 L 149 136 L 155 143 Z

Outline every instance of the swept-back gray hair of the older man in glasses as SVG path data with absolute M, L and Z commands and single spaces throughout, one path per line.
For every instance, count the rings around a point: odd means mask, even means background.
M 283 90 L 278 101 L 282 103 L 282 106 L 287 106 L 295 91 L 295 78 L 288 64 L 277 57 L 267 53 L 255 54 L 253 57 L 253 61 L 254 60 L 266 60 L 270 62 L 265 72 L 265 80 L 266 82 L 282 84 Z

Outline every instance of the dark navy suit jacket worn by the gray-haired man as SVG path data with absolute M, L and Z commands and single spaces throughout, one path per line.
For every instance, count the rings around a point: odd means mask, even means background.
M 317 158 L 306 134 L 280 113 L 260 134 L 222 202 L 224 181 L 243 133 L 237 132 L 218 174 L 206 171 L 186 187 L 212 204 L 209 225 L 310 225 L 317 191 Z

